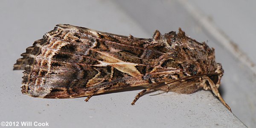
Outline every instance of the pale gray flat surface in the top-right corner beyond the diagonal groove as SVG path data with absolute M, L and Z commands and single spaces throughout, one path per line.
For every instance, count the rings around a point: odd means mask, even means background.
M 256 63 L 255 0 L 191 0 Z

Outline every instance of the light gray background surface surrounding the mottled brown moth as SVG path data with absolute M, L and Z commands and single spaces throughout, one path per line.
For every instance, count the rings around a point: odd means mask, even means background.
M 189 5 L 211 17 L 215 26 L 256 62 L 253 0 L 191 0 Z M 2 0 L 0 19 L 0 122 L 47 121 L 50 128 L 256 127 L 255 73 L 193 17 L 184 0 Z M 84 102 L 85 98 L 55 100 L 21 94 L 22 71 L 12 71 L 13 64 L 59 23 L 144 38 L 151 38 L 155 29 L 166 33 L 181 27 L 200 42 L 208 40 L 224 67 L 220 89 L 233 114 L 210 91 L 145 95 L 135 106 L 130 103 L 140 90 L 98 95 L 89 102 Z

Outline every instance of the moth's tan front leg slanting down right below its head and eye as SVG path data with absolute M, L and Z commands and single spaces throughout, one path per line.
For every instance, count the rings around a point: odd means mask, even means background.
M 218 97 L 218 99 L 221 101 L 221 103 L 222 103 L 224 106 L 226 106 L 229 111 L 231 111 L 230 106 L 227 105 L 227 103 L 222 99 L 221 94 L 219 93 L 218 88 L 217 88 L 217 86 L 214 84 L 214 82 L 213 82 L 209 77 L 207 77 L 207 81 L 209 82 L 209 85 L 210 85 L 210 88 L 212 89 L 213 94 L 214 94 L 216 97 Z M 231 112 L 232 112 L 232 111 L 231 111 Z

